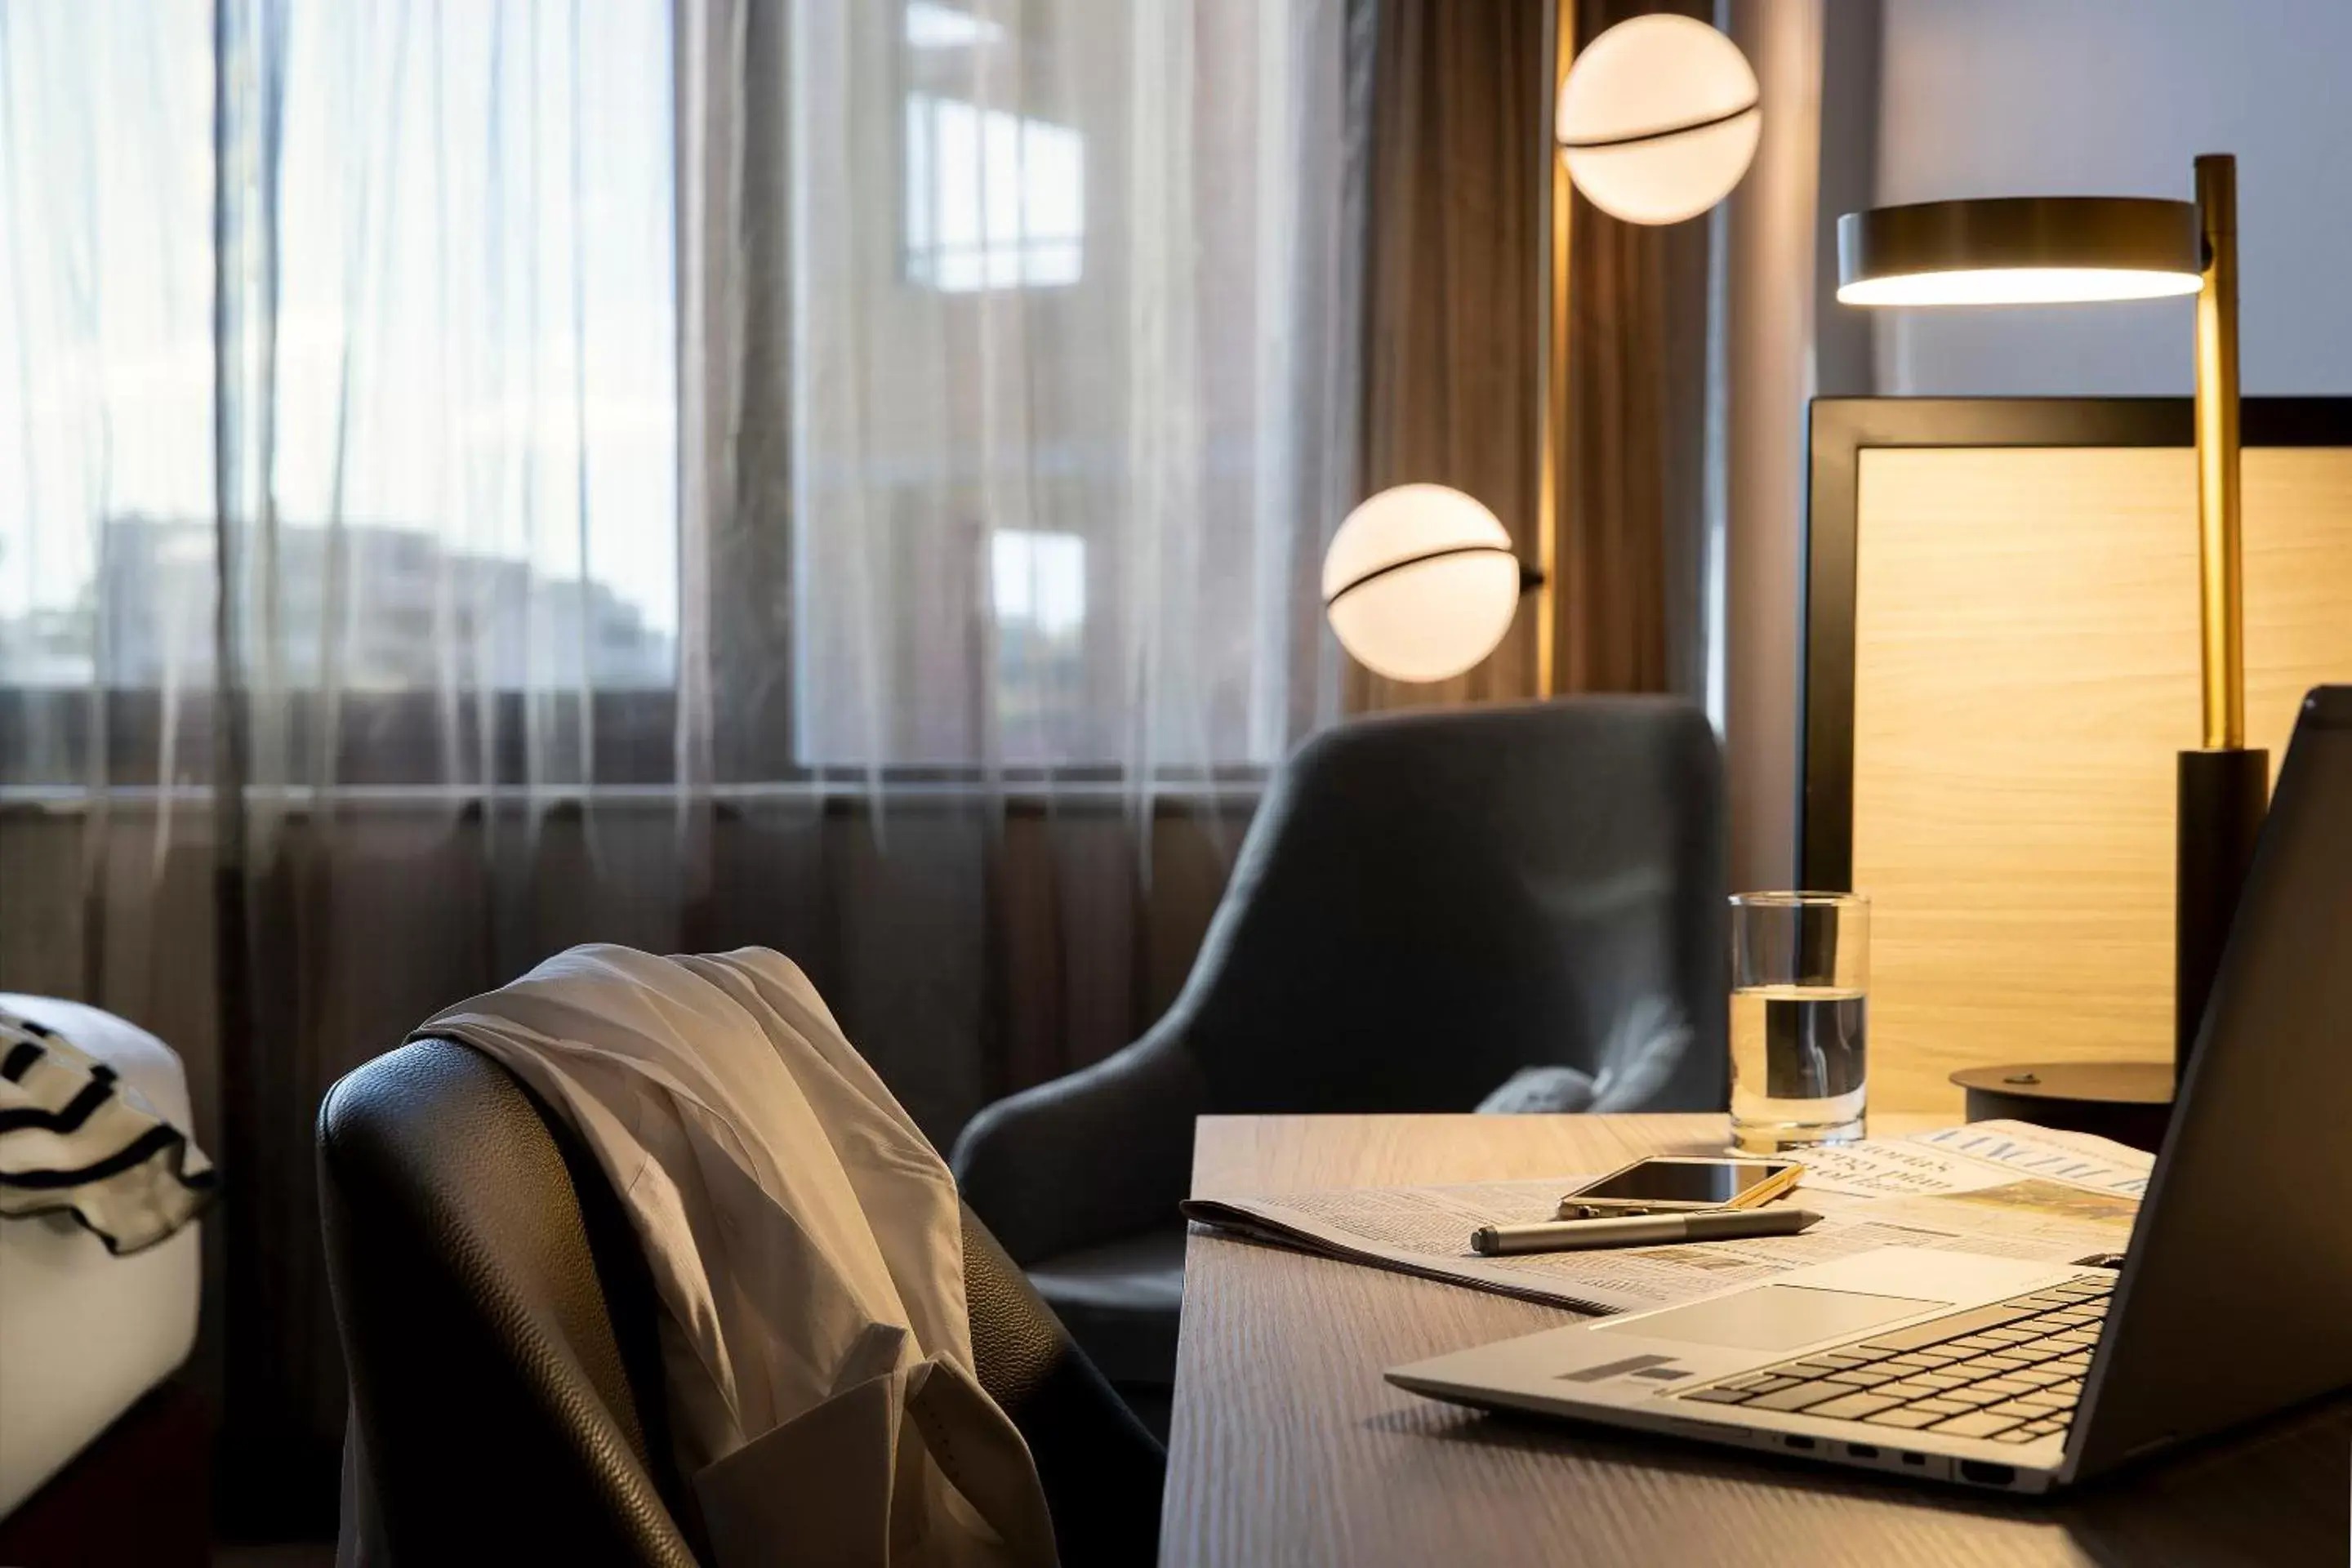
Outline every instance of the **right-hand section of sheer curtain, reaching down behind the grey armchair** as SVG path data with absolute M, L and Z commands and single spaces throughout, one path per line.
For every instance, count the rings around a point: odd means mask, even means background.
M 1364 16 L 680 7 L 706 907 L 934 1138 L 1150 1020 L 1336 710 Z

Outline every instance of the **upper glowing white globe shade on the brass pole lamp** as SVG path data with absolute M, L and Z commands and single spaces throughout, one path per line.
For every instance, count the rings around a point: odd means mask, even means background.
M 1576 52 L 1559 85 L 1569 179 L 1628 223 L 1679 223 L 1715 207 L 1740 183 L 1762 132 L 1748 56 L 1693 16 L 1616 24 Z

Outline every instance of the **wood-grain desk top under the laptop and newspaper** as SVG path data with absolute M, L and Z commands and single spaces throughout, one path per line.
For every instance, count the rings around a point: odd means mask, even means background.
M 1905 1133 L 1931 1117 L 1879 1117 Z M 1722 1147 L 1719 1117 L 1204 1117 L 1197 1197 L 1599 1173 Z M 2352 1401 L 2063 1502 L 1900 1486 L 1418 1399 L 1381 1368 L 1573 1314 L 1192 1229 L 1162 1563 L 2331 1563 Z

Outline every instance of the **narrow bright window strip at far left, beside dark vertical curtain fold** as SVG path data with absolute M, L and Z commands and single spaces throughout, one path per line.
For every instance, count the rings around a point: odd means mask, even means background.
M 108 524 L 212 512 L 212 7 L 9 5 L 0 47 L 0 686 L 139 679 L 209 649 L 198 562 L 108 564 Z M 202 531 L 198 531 L 202 534 Z M 186 550 L 188 545 L 181 545 Z M 108 616 L 101 569 L 195 571 Z

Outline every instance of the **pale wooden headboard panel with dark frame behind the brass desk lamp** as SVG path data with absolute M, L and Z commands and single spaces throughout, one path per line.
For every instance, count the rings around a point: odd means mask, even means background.
M 2249 743 L 2352 679 L 2352 400 L 2246 402 Z M 1820 400 L 1799 865 L 1872 896 L 1870 1103 L 2171 1056 L 2190 400 Z

